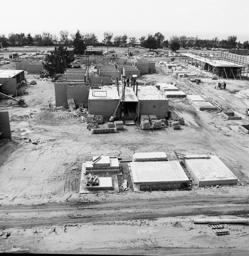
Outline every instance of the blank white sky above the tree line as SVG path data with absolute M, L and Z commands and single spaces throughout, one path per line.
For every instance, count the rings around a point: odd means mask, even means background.
M 248 0 L 11 0 L 0 2 L 0 34 L 42 32 L 59 35 L 104 32 L 137 37 L 161 32 L 201 39 L 249 40 Z

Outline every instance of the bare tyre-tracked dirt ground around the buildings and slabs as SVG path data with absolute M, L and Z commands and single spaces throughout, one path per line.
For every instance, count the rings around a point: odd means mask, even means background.
M 173 77 L 159 62 L 156 68 L 156 74 L 142 76 L 146 84 L 176 82 L 180 90 L 205 95 L 223 111 L 244 114 L 249 106 L 242 94 L 229 93 L 247 89 L 248 80 L 225 79 L 226 90 L 216 90 L 217 81 L 210 78 L 201 77 L 196 84 Z M 54 84 L 34 77 L 26 74 L 28 82 L 35 79 L 37 84 L 21 88 L 28 93 L 20 97 L 27 108 L 0 101 L 0 109 L 9 112 L 13 136 L 0 141 L 1 252 L 248 254 L 249 225 L 225 224 L 230 234 L 217 237 L 210 227 L 192 220 L 248 218 L 249 135 L 240 124 L 249 120 L 228 121 L 221 111 L 196 111 L 189 100 L 175 98 L 169 99 L 169 108 L 185 118 L 180 131 L 126 125 L 117 133 L 91 134 L 87 123 L 67 109 L 49 112 L 48 103 L 55 103 Z M 217 155 L 238 177 L 238 185 L 198 188 L 187 173 L 190 191 L 134 193 L 127 163 L 122 163 L 119 185 L 127 179 L 128 190 L 78 193 L 82 163 L 93 155 L 127 160 L 136 152 L 154 151 L 165 152 L 169 160 L 177 160 L 174 151 Z M 179 203 L 170 205 L 174 201 Z

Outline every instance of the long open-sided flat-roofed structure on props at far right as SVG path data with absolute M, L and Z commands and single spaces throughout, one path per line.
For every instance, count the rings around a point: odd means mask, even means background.
M 217 75 L 227 79 L 241 79 L 242 76 L 247 76 L 248 73 L 249 59 L 246 56 L 227 52 L 222 52 L 216 59 L 204 58 L 191 53 L 183 53 L 183 55 L 185 56 L 185 62 L 199 67 L 201 71 L 206 71 L 207 75 Z

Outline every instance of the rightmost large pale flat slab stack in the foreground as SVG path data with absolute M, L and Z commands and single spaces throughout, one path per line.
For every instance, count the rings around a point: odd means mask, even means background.
M 184 163 L 198 186 L 237 185 L 238 178 L 217 156 L 184 159 Z

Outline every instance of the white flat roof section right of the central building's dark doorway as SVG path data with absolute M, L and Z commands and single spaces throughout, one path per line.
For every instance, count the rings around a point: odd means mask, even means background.
M 137 97 L 139 100 L 168 100 L 155 86 L 138 86 Z

